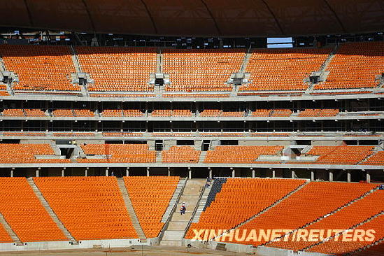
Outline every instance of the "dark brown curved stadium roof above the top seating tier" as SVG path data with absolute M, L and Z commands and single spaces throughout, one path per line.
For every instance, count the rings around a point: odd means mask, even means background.
M 0 26 L 159 36 L 296 36 L 384 28 L 383 0 L 0 0 Z

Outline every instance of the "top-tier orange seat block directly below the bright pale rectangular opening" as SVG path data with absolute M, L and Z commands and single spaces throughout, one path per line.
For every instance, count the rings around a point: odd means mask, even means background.
M 246 68 L 251 83 L 240 91 L 306 90 L 304 78 L 320 69 L 331 50 L 254 50 Z

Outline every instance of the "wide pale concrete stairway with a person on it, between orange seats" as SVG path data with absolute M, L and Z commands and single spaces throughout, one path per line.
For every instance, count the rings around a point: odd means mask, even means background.
M 160 246 L 183 246 L 185 229 L 192 220 L 192 213 L 197 208 L 201 190 L 204 189 L 205 184 L 206 180 L 187 180 L 183 194 L 178 200 L 177 207 L 173 210 L 171 221 L 160 241 Z M 183 202 L 187 211 L 181 215 L 180 207 Z

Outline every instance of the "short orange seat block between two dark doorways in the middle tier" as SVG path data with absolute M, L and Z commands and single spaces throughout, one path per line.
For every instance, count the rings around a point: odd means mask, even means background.
M 162 151 L 162 162 L 166 163 L 197 163 L 200 157 L 199 150 L 190 145 L 173 145 L 169 150 Z

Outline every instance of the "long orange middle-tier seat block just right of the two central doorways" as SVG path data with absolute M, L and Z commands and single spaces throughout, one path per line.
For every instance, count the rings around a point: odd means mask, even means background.
M 255 163 L 259 155 L 277 155 L 280 145 L 218 145 L 209 150 L 204 163 Z

